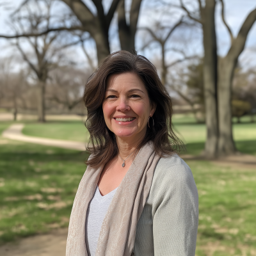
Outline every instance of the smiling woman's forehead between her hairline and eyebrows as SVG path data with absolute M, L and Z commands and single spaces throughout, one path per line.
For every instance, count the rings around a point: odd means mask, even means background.
M 108 89 L 119 90 L 131 90 L 138 88 L 146 91 L 146 88 L 141 81 L 140 77 L 134 73 L 122 73 L 122 74 L 111 74 L 107 79 L 107 88 Z

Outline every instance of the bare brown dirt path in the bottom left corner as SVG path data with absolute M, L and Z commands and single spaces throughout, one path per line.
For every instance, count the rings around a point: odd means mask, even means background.
M 68 229 L 27 237 L 0 247 L 1 256 L 65 256 Z

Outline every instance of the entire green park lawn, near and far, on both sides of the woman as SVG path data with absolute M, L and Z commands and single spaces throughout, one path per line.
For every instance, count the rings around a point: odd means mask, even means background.
M 189 154 L 198 154 L 204 148 L 204 124 L 195 124 L 191 116 L 175 116 L 173 121 Z M 0 132 L 10 124 L 1 123 Z M 83 141 L 86 134 L 79 122 L 28 123 L 24 129 L 31 136 L 39 136 L 39 131 L 61 140 Z M 256 155 L 256 124 L 235 124 L 234 137 L 239 150 Z M 0 144 L 0 156 L 0 243 L 67 227 L 88 156 L 16 141 Z M 196 255 L 256 255 L 256 168 L 187 163 L 199 194 Z

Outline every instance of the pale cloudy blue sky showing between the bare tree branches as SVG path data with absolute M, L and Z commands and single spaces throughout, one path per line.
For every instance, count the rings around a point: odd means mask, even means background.
M 24 1 L 24 0 L 23 0 Z M 93 4 L 90 0 L 84 0 L 85 2 L 89 3 L 93 10 Z M 109 6 L 109 0 L 103 0 L 104 6 L 108 8 Z M 157 1 L 157 0 L 154 0 Z M 167 2 L 168 0 L 166 0 Z M 175 0 L 174 0 L 175 1 Z M 177 0 L 176 0 L 177 1 Z M 187 0 L 188 1 L 188 0 Z M 190 1 L 190 0 L 189 0 Z M 0 34 L 10 35 L 12 34 L 12 31 L 10 28 L 8 28 L 6 22 L 10 22 L 10 12 L 12 12 L 13 8 L 17 8 L 19 4 L 22 2 L 22 0 L 0 0 Z M 184 0 L 186 3 L 186 0 Z M 244 19 L 250 13 L 253 8 L 256 8 L 256 1 L 255 0 L 224 0 L 225 2 L 225 14 L 226 14 L 226 20 L 227 23 L 230 25 L 230 28 L 232 29 L 232 32 L 236 36 L 241 24 L 243 24 Z M 7 4 L 4 4 L 7 3 Z M 131 0 L 127 1 L 127 7 L 129 7 L 129 4 L 131 3 Z M 154 8 L 149 8 L 148 0 L 143 0 L 141 5 L 141 13 L 140 13 L 140 19 L 138 21 L 138 27 L 143 26 L 153 26 L 154 22 L 157 19 L 163 19 L 161 17 L 161 12 L 157 12 L 157 10 L 154 10 Z M 156 4 L 157 2 L 155 2 Z M 6 8 L 8 7 L 8 8 Z M 60 10 L 64 10 L 64 6 Z M 67 9 L 66 9 L 67 10 Z M 165 22 L 167 24 L 172 24 L 175 22 L 175 19 L 179 17 L 180 12 L 177 10 L 173 10 L 170 17 L 166 16 Z M 120 45 L 118 42 L 118 35 L 116 34 L 117 26 L 116 26 L 116 16 L 113 19 L 112 25 L 111 25 L 111 31 L 109 31 L 109 38 L 111 38 L 111 51 L 117 51 L 120 49 Z M 140 34 L 141 33 L 141 36 Z M 230 47 L 230 38 L 228 36 L 227 28 L 223 26 L 223 22 L 220 17 L 220 4 L 217 5 L 217 12 L 216 12 L 216 33 L 217 33 L 217 42 L 218 42 L 218 53 L 221 56 L 225 56 L 227 54 L 227 51 Z M 141 45 L 143 44 L 143 40 L 141 38 L 146 38 L 147 35 L 143 32 L 138 32 L 138 36 L 136 37 L 136 47 L 137 49 L 140 49 Z M 173 45 L 180 45 L 180 47 L 185 47 L 186 51 L 188 51 L 188 54 L 201 54 L 203 52 L 202 49 L 202 33 L 200 29 L 193 29 L 193 31 L 189 31 L 189 29 L 182 30 L 181 32 L 177 31 L 177 33 L 173 33 L 172 38 L 170 38 L 170 42 L 172 41 Z M 189 44 L 188 44 L 189 41 Z M 185 44 L 186 43 L 186 44 Z M 154 45 L 153 45 L 154 46 Z M 152 46 L 152 47 L 153 47 Z M 4 40 L 0 38 L 0 47 L 2 51 L 0 51 L 0 60 L 4 56 L 8 56 L 12 54 L 13 49 L 10 48 L 10 43 L 7 40 Z M 88 43 L 87 45 L 88 49 L 90 51 L 94 51 L 94 44 L 93 42 Z M 153 49 L 150 49 L 145 52 L 139 52 L 142 54 L 145 54 L 149 59 L 157 58 L 157 55 L 159 55 L 159 48 L 153 47 Z M 83 63 L 86 61 L 86 58 L 83 56 L 83 52 L 81 52 L 81 49 L 71 49 L 70 54 L 72 58 L 72 54 L 76 55 L 76 60 L 81 61 Z M 246 42 L 246 47 L 241 54 L 239 60 L 241 63 L 244 63 L 245 65 L 256 65 L 256 22 L 253 25 L 253 28 L 251 29 L 248 39 Z M 170 55 L 170 59 L 175 59 L 177 56 Z

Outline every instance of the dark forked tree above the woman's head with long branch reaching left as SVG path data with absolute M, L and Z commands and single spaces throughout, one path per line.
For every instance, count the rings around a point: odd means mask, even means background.
M 36 1 L 36 0 L 35 0 Z M 38 0 L 37 0 L 38 1 Z M 88 5 L 82 0 L 61 0 L 67 4 L 72 13 L 76 16 L 77 22 L 72 26 L 59 26 L 58 28 L 46 28 L 37 32 L 20 33 L 19 35 L 7 36 L 0 35 L 3 38 L 17 38 L 23 36 L 42 36 L 51 31 L 76 31 L 90 33 L 96 44 L 98 63 L 102 63 L 104 59 L 109 55 L 109 26 L 113 15 L 118 8 L 118 32 L 120 38 L 120 45 L 122 50 L 134 51 L 136 27 L 138 22 L 138 16 L 140 13 L 141 0 L 132 0 L 130 20 L 127 22 L 125 18 L 125 0 L 113 0 L 108 12 L 105 12 L 102 0 L 92 0 L 97 13 L 93 13 Z M 29 0 L 25 0 L 21 6 L 28 4 Z M 119 4 L 120 3 L 120 4 Z M 119 6 L 118 6 L 119 4 Z

